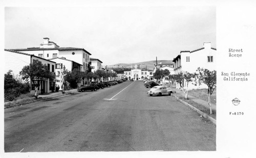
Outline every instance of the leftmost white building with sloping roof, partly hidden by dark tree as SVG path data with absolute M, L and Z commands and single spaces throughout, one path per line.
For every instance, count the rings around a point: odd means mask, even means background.
M 13 50 L 7 50 L 5 49 L 5 72 L 8 72 L 9 70 L 12 70 L 12 75 L 15 78 L 21 78 L 19 75 L 19 72 L 22 71 L 23 67 L 26 65 L 29 65 L 30 63 L 33 63 L 34 60 L 40 61 L 42 64 L 46 64 L 48 66 L 48 69 L 51 72 L 55 72 L 55 65 L 56 62 L 50 61 L 44 58 L 40 58 L 31 54 L 22 53 L 22 52 L 16 52 Z M 50 79 L 44 79 L 41 81 L 40 87 L 38 87 L 37 90 L 41 91 L 42 93 L 50 93 L 52 91 L 55 91 L 55 78 Z M 30 91 L 35 90 L 33 83 L 30 81 Z

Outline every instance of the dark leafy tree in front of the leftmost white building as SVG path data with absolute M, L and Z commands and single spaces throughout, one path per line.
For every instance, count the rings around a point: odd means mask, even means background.
M 38 60 L 34 60 L 33 63 L 24 66 L 19 74 L 22 76 L 23 80 L 31 79 L 35 89 L 40 86 L 42 80 L 55 78 L 55 74 L 53 72 L 50 72 L 48 66 L 46 64 L 43 65 Z M 35 97 L 37 98 L 36 94 L 37 93 L 35 91 Z

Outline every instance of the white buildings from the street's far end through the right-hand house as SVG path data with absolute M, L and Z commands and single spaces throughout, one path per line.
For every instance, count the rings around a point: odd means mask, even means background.
M 216 51 L 216 48 L 211 47 L 210 42 L 204 42 L 203 47 L 197 50 L 180 51 L 180 54 L 175 57 L 171 63 L 155 64 L 153 71 L 143 71 L 137 69 L 137 66 L 135 65 L 135 69 L 125 71 L 123 77 L 129 80 L 132 78 L 135 80 L 143 80 L 144 78 L 153 80 L 153 75 L 157 69 L 167 69 L 170 74 L 178 74 L 180 72 L 195 73 L 198 67 L 213 71 L 216 70 Z M 195 88 L 193 86 L 190 87 Z

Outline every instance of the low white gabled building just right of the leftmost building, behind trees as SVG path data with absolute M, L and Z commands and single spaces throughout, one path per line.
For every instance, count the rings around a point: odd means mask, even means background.
M 69 60 L 69 59 L 66 59 L 64 57 L 57 57 L 57 58 L 53 58 L 53 59 L 49 59 L 50 61 L 54 61 L 56 62 L 56 68 L 55 68 L 55 73 L 56 73 L 56 85 L 60 87 L 60 91 L 62 90 L 62 80 L 61 78 L 63 78 L 63 76 L 61 76 L 61 73 L 63 71 L 63 69 L 66 69 L 68 71 L 72 71 L 73 69 L 78 69 L 78 70 L 81 70 L 81 67 L 82 65 L 75 62 L 75 61 L 72 61 L 72 60 Z

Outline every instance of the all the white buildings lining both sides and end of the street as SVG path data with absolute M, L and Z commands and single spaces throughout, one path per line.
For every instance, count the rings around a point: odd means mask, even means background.
M 48 65 L 48 69 L 55 74 L 61 74 L 63 69 L 72 71 L 78 69 L 83 72 L 103 70 L 108 71 L 102 66 L 102 61 L 97 58 L 91 58 L 91 53 L 83 48 L 59 47 L 55 42 L 44 38 L 39 47 L 27 49 L 5 49 L 5 72 L 12 70 L 12 75 L 20 77 L 19 72 L 25 65 L 39 60 L 42 64 Z M 210 42 L 204 42 L 203 47 L 193 51 L 180 51 L 180 54 L 173 59 L 171 63 L 157 63 L 153 70 L 142 70 L 137 65 L 131 71 L 124 71 L 118 74 L 119 78 L 128 80 L 154 79 L 154 73 L 157 69 L 169 70 L 170 74 L 180 72 L 194 73 L 198 67 L 208 70 L 216 69 L 216 48 L 211 47 Z M 61 75 L 53 79 L 44 79 L 41 81 L 39 91 L 49 93 L 55 91 L 55 86 L 61 87 Z M 81 84 L 86 83 L 86 80 Z M 32 83 L 31 83 L 32 84 Z M 33 88 L 33 85 L 31 85 Z M 31 91 L 34 89 L 31 89 Z

